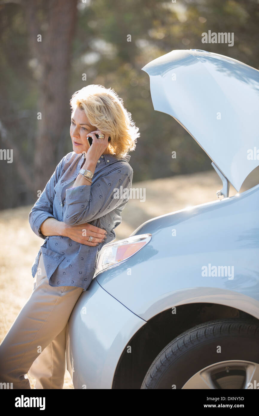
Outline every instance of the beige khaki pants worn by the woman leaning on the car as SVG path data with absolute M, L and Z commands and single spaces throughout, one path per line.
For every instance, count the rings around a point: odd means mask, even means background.
M 32 294 L 0 344 L 0 383 L 30 389 L 30 370 L 35 389 L 63 388 L 67 321 L 82 291 L 50 286 L 40 255 Z

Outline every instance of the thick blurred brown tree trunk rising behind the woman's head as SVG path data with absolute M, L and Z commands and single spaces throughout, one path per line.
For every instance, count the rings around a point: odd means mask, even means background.
M 27 2 L 30 48 L 41 69 L 37 113 L 42 119 L 37 120 L 35 135 L 35 190 L 44 189 L 63 156 L 64 131 L 70 124 L 68 83 L 76 5 L 77 0 Z M 42 35 L 42 42 L 37 41 L 38 35 Z

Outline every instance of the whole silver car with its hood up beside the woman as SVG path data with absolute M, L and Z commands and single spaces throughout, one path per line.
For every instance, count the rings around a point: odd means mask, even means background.
M 222 189 L 101 249 L 69 319 L 74 388 L 258 389 L 259 185 L 229 197 L 229 184 L 259 166 L 259 71 L 202 50 L 143 70 L 154 109 L 210 156 Z

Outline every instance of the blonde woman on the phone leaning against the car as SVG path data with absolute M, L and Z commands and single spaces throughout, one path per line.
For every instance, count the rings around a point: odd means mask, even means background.
M 34 288 L 0 345 L 0 382 L 13 389 L 30 389 L 29 369 L 36 389 L 62 389 L 67 321 L 91 282 L 98 251 L 116 237 L 128 200 L 123 192 L 113 195 L 131 188 L 126 154 L 139 133 L 122 100 L 112 89 L 89 85 L 70 104 L 73 152 L 59 162 L 29 214 L 32 230 L 44 238 L 32 265 Z

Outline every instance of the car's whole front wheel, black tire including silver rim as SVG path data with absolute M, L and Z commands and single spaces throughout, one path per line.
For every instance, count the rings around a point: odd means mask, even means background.
M 158 354 L 141 386 L 247 388 L 259 388 L 259 324 L 239 318 L 205 322 L 180 334 Z

